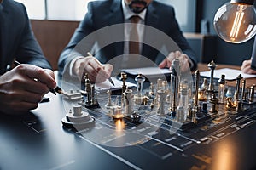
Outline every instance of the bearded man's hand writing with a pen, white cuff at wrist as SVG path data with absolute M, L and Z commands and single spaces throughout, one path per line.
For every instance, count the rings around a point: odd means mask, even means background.
M 111 77 L 113 65 L 102 65 L 95 57 L 87 56 L 77 59 L 73 65 L 73 72 L 78 75 L 79 80 L 88 74 L 91 82 L 104 82 Z

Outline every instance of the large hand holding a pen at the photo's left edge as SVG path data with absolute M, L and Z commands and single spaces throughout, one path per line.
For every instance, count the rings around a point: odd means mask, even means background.
M 55 87 L 53 71 L 18 65 L 0 76 L 0 111 L 17 115 L 36 109 L 49 88 Z

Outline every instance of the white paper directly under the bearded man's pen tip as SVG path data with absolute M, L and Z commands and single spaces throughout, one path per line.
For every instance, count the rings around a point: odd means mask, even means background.
M 98 90 L 98 91 L 101 91 L 101 90 L 109 90 L 109 89 L 119 89 L 119 88 L 122 88 L 123 86 L 123 82 L 118 80 L 116 77 L 111 77 L 111 79 L 113 80 L 113 83 L 114 83 L 114 86 L 111 82 L 108 81 L 108 79 L 105 81 L 105 82 L 101 82 L 101 83 L 96 83 L 95 84 L 95 89 Z M 128 87 L 128 88 L 134 88 L 134 87 L 137 87 L 136 84 L 134 83 L 131 83 L 131 82 L 125 82 L 125 85 Z

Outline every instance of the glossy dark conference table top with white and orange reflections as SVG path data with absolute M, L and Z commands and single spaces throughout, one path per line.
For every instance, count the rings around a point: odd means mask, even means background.
M 239 69 L 238 66 L 218 65 L 218 68 L 226 67 Z M 198 69 L 209 71 L 206 64 L 199 64 Z M 255 81 L 256 78 L 247 79 L 248 84 Z M 236 85 L 235 81 L 228 83 Z M 163 140 L 147 133 L 143 141 L 115 146 L 91 141 L 81 135 L 83 132 L 63 127 L 61 120 L 67 111 L 62 96 L 47 94 L 46 97 L 49 102 L 39 104 L 26 115 L 0 116 L 0 170 L 256 169 L 253 106 L 250 114 L 235 116 L 236 123 L 225 122 L 201 138 L 196 138 L 196 133 L 187 137 L 187 132 L 176 133 L 174 137 L 165 131 L 161 134 Z M 226 133 L 228 130 L 230 133 Z M 172 139 L 186 143 L 176 147 Z

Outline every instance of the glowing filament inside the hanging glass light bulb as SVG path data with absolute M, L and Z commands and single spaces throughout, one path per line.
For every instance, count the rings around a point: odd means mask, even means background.
M 244 5 L 238 5 L 239 11 L 236 12 L 236 17 L 233 22 L 232 30 L 230 31 L 230 37 L 237 38 L 240 27 L 241 27 L 241 21 L 244 16 L 243 8 Z

